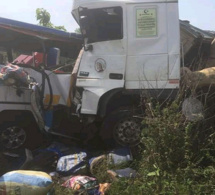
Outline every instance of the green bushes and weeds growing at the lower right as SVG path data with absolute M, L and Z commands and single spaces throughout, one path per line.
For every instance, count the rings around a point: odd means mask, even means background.
M 148 105 L 144 148 L 135 162 L 139 176 L 114 182 L 109 194 L 214 194 L 213 128 L 205 121 L 187 122 L 180 101 Z

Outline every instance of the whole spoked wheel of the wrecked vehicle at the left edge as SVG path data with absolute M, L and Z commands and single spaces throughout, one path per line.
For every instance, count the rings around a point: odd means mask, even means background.
M 16 123 L 4 123 L 0 126 L 0 144 L 3 148 L 13 150 L 24 145 L 26 130 Z

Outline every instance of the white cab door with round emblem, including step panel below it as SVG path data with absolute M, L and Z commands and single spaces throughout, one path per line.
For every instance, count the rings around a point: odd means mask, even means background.
M 126 64 L 126 13 L 121 4 L 82 10 L 80 26 L 91 50 L 83 53 L 77 87 L 83 87 L 81 113 L 96 114 L 100 97 L 124 87 Z

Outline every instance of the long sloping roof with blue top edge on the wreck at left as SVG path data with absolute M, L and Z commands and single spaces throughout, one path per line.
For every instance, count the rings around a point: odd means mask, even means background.
M 0 47 L 41 51 L 42 40 L 46 48 L 58 47 L 68 57 L 76 57 L 82 47 L 79 34 L 0 17 Z

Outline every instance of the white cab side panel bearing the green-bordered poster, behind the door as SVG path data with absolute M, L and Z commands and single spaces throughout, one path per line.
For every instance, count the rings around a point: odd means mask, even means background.
M 131 14 L 132 13 L 132 14 Z M 168 80 L 166 3 L 127 5 L 127 89 L 162 88 Z

